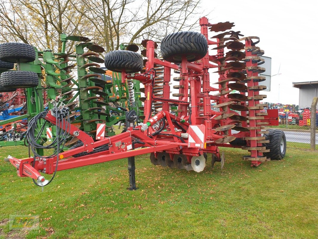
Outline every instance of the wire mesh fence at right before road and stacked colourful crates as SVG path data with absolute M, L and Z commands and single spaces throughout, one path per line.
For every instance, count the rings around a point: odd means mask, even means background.
M 287 147 L 310 148 L 310 126 L 315 124 L 315 149 L 318 149 L 318 111 L 316 109 L 313 109 L 316 119 L 311 119 L 310 106 L 267 104 L 268 107 L 265 108 L 265 111 L 267 109 L 278 109 L 279 115 L 279 125 L 268 126 L 267 128 L 277 128 L 284 131 Z

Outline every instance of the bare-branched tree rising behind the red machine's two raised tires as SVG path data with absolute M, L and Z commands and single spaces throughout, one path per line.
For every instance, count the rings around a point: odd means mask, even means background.
M 200 0 L 103 0 L 82 1 L 81 11 L 95 27 L 93 38 L 107 51 L 118 49 L 121 42 L 151 39 L 160 42 L 168 33 L 189 30 L 200 16 Z

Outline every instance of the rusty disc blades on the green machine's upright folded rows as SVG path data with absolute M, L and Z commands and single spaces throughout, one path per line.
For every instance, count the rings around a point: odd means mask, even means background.
M 104 99 L 106 96 L 108 96 L 107 93 L 105 93 L 105 84 L 106 82 L 102 80 L 100 74 L 105 74 L 106 71 L 104 69 L 100 68 L 100 63 L 104 63 L 104 60 L 100 58 L 99 53 L 103 53 L 105 49 L 103 47 L 100 47 L 96 45 L 95 43 L 90 43 L 90 39 L 86 37 L 81 37 L 81 36 L 68 36 L 67 40 L 73 40 L 73 41 L 82 41 L 83 43 L 79 43 L 78 45 L 85 45 L 86 48 L 88 49 L 88 52 L 79 55 L 79 58 L 84 58 L 84 64 L 79 66 L 78 64 L 68 64 L 68 62 L 75 62 L 70 56 L 73 54 L 68 53 L 68 54 L 63 54 L 59 55 L 56 57 L 57 60 L 59 60 L 60 64 L 66 63 L 66 67 L 61 69 L 60 72 L 65 72 L 65 77 L 61 77 L 63 80 L 60 82 L 65 82 L 62 85 L 62 89 L 60 91 L 60 96 L 62 97 L 62 102 L 65 103 L 69 109 L 70 109 L 70 115 L 69 118 L 71 122 L 75 120 L 75 116 L 78 116 L 80 113 L 74 111 L 75 107 L 78 106 L 79 100 L 86 100 L 90 102 L 90 107 L 87 109 L 87 111 L 97 114 L 97 115 L 106 115 L 108 116 L 109 114 L 105 112 L 105 109 L 103 106 L 109 105 L 108 103 L 104 102 Z M 95 86 L 88 86 L 83 89 L 79 89 L 78 87 L 73 88 L 75 85 L 73 83 L 74 78 L 76 78 L 74 75 L 70 75 L 72 72 L 72 69 L 74 67 L 79 67 L 80 69 L 85 69 L 85 74 L 83 76 L 78 76 L 77 80 L 83 80 L 85 79 L 87 82 L 87 85 L 90 85 L 90 81 L 95 83 Z M 63 90 L 63 88 L 66 88 Z M 86 98 L 85 99 L 73 99 L 74 98 L 74 91 L 81 91 L 83 95 L 83 92 L 86 93 Z M 90 93 L 93 94 L 93 96 L 90 96 Z M 73 99 L 73 100 L 72 100 Z M 100 117 L 98 117 L 100 118 Z M 105 122 L 105 120 L 101 119 L 95 119 L 90 118 L 90 119 L 83 119 L 87 120 L 89 123 L 99 123 L 99 122 Z M 94 127 L 93 127 L 94 128 Z M 96 130 L 92 130 L 89 133 L 94 134 Z M 66 143 L 66 146 L 72 145 L 77 141 L 77 138 L 73 138 L 72 140 L 68 141 Z

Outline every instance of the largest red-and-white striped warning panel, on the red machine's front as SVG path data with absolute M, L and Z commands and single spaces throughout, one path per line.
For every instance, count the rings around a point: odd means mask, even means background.
M 205 126 L 204 125 L 190 125 L 189 130 L 189 148 L 205 148 Z

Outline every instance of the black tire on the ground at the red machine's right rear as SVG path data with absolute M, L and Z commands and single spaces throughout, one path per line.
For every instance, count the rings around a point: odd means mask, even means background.
M 271 159 L 283 159 L 286 154 L 286 136 L 284 131 L 270 129 L 269 133 L 264 134 L 264 136 L 266 140 L 269 140 L 269 143 L 264 143 L 263 146 L 270 151 L 263 153 L 263 155 Z

